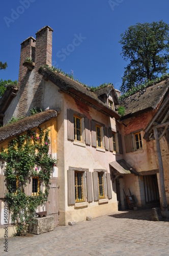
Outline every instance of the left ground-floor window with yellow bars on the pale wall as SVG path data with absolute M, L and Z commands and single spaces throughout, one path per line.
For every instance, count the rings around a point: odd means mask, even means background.
M 83 202 L 83 173 L 74 173 L 74 183 L 75 183 L 75 202 Z

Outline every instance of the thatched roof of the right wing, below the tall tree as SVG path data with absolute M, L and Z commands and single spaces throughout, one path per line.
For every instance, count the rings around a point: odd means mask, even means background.
M 146 111 L 157 108 L 169 88 L 169 79 L 161 81 L 153 86 L 145 88 L 121 101 L 121 106 L 125 108 L 125 116 L 122 119 L 136 116 Z

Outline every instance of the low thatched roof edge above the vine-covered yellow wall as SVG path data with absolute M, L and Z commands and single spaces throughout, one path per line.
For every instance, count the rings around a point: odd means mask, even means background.
M 57 111 L 48 110 L 3 126 L 0 128 L 0 142 L 33 129 L 53 117 L 57 117 Z

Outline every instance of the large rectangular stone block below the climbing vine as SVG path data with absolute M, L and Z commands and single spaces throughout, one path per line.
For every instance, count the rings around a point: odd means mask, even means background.
M 33 218 L 33 220 L 34 223 L 29 228 L 31 233 L 41 234 L 53 230 L 53 216 Z

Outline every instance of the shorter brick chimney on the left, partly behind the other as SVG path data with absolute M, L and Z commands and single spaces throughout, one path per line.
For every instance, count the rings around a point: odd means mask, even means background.
M 18 86 L 27 72 L 27 68 L 23 66 L 26 57 L 32 57 L 33 62 L 35 61 L 35 45 L 36 40 L 32 36 L 21 42 Z

